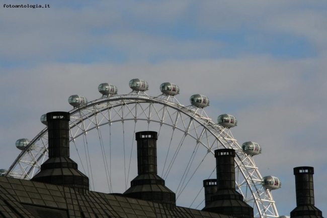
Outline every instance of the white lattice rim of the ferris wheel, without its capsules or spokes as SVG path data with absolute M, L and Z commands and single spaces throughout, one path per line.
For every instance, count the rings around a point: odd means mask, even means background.
M 171 119 L 172 123 L 164 120 L 163 117 L 160 119 L 160 116 L 157 113 L 156 118 L 153 119 L 153 115 L 146 116 L 146 113 L 143 110 L 142 115 L 145 115 L 147 119 L 140 119 L 137 116 L 137 112 L 133 114 L 134 110 L 141 103 L 151 105 L 161 105 L 162 108 L 170 108 L 175 111 L 176 123 Z M 129 105 L 133 105 L 129 108 Z M 129 110 L 128 115 L 124 115 L 122 107 L 127 107 Z M 148 110 L 149 108 L 146 107 Z M 118 108 L 118 110 L 115 110 Z M 99 113 L 102 113 L 107 110 L 115 111 L 116 115 L 119 115 L 121 110 L 121 115 L 116 119 L 111 120 L 107 119 L 106 122 L 99 122 L 98 119 L 95 119 Z M 165 109 L 163 109 L 165 110 Z M 214 154 L 214 150 L 219 147 L 219 144 L 223 148 L 233 148 L 236 150 L 235 157 L 235 174 L 236 168 L 238 175 L 242 175 L 243 179 L 236 179 L 236 189 L 243 195 L 244 200 L 249 204 L 252 203 L 255 209 L 255 217 L 278 217 L 278 211 L 273 200 L 273 196 L 269 189 L 265 189 L 261 185 L 262 176 L 258 170 L 258 167 L 255 165 L 253 157 L 251 155 L 244 154 L 241 147 L 237 144 L 237 141 L 233 138 L 230 129 L 224 128 L 218 124 L 215 124 L 211 119 L 205 114 L 204 110 L 201 108 L 196 108 L 194 106 L 184 106 L 179 103 L 179 101 L 174 96 L 159 95 L 157 97 L 148 96 L 145 92 L 135 92 L 132 91 L 129 94 L 124 95 L 109 95 L 103 96 L 99 99 L 90 101 L 83 106 L 75 107 L 69 111 L 71 121 L 69 123 L 70 127 L 70 141 L 74 141 L 77 137 L 87 133 L 96 128 L 100 128 L 106 124 L 112 124 L 115 122 L 124 122 L 128 120 L 134 120 L 135 122 L 139 120 L 147 122 L 157 122 L 160 125 L 168 125 L 174 129 L 185 132 L 186 135 L 191 136 L 197 141 L 197 143 L 204 146 L 208 152 Z M 78 117 L 75 117 L 77 115 Z M 179 116 L 186 116 L 189 118 L 188 124 L 185 125 L 183 122 L 177 122 Z M 128 117 L 129 116 L 129 117 Z M 134 116 L 134 117 L 132 117 Z M 152 116 L 152 117 L 151 117 Z M 163 115 L 162 115 L 163 116 Z M 92 120 L 93 119 L 93 120 Z M 166 118 L 165 118 L 166 119 Z M 81 127 L 84 124 L 84 121 L 90 120 L 89 127 Z M 188 131 L 191 126 L 191 123 L 197 123 L 198 127 L 202 128 L 201 136 L 193 136 Z M 78 126 L 79 125 L 79 126 Z M 91 126 L 92 125 L 92 126 Z M 195 126 L 194 126 L 195 127 Z M 77 128 L 77 131 L 73 132 L 72 130 Z M 196 129 L 196 127 L 195 127 Z M 196 132 L 196 131 L 195 131 Z M 211 134 L 215 138 L 214 142 L 203 142 L 203 134 Z M 14 163 L 11 165 L 5 176 L 11 176 L 22 179 L 30 179 L 35 175 L 40 169 L 41 164 L 44 162 L 47 154 L 47 128 L 43 129 L 33 140 L 29 143 L 25 150 L 23 150 L 20 155 L 16 158 Z M 196 134 L 197 135 L 197 134 Z M 38 141 L 41 141 L 41 146 L 35 146 Z M 213 146 L 215 143 L 218 144 L 217 147 Z M 221 147 L 222 148 L 222 147 Z M 27 165 L 27 166 L 26 166 Z M 18 170 L 17 170 L 18 168 Z M 18 171 L 21 171 L 18 173 Z M 32 175 L 32 176 L 30 176 Z M 235 176 L 236 177 L 236 176 Z M 247 193 L 243 193 L 241 187 L 245 187 L 251 191 L 252 196 L 246 196 Z

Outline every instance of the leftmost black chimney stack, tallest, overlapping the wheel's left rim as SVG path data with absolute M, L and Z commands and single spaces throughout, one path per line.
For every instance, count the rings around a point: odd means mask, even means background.
M 41 171 L 31 180 L 72 187 L 79 193 L 85 193 L 89 190 L 89 178 L 69 158 L 69 113 L 50 112 L 46 114 L 46 118 L 49 159 L 41 165 Z

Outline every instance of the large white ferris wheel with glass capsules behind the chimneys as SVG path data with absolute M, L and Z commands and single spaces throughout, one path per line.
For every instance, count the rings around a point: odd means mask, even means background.
M 204 111 L 209 99 L 201 94 L 192 95 L 190 105 L 182 105 L 176 98 L 179 86 L 170 82 L 160 85 L 162 94 L 156 97 L 147 95 L 144 80 L 132 79 L 129 86 L 130 93 L 118 94 L 115 85 L 102 83 L 98 87 L 102 96 L 96 100 L 81 95 L 68 98 L 73 106 L 69 111 L 70 156 L 90 178 L 92 190 L 99 191 L 99 186 L 104 187 L 102 192 L 126 190 L 133 178 L 130 174 L 137 172 L 135 132 L 156 131 L 158 174 L 162 172 L 160 176 L 183 206 L 203 208 L 202 180 L 215 177 L 212 154 L 232 148 L 236 190 L 254 208 L 255 217 L 279 216 L 271 190 L 281 187 L 281 182 L 274 176 L 261 176 L 254 161 L 261 154 L 258 143 L 239 145 L 234 139 L 235 117 L 224 114 L 217 122 L 210 119 Z M 41 122 L 47 125 L 45 115 Z M 48 155 L 47 127 L 32 140 L 17 140 L 16 146 L 22 152 L 2 174 L 31 179 Z

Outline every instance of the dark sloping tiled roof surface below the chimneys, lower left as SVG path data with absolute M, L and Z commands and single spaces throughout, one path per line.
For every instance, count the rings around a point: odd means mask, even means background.
M 87 191 L 41 182 L 0 177 L 0 217 L 221 217 L 212 212 Z

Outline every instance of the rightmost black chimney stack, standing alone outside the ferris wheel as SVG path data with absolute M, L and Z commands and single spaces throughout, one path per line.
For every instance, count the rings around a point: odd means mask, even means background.
M 297 207 L 291 211 L 291 218 L 322 218 L 322 212 L 314 206 L 313 173 L 313 167 L 294 168 Z

